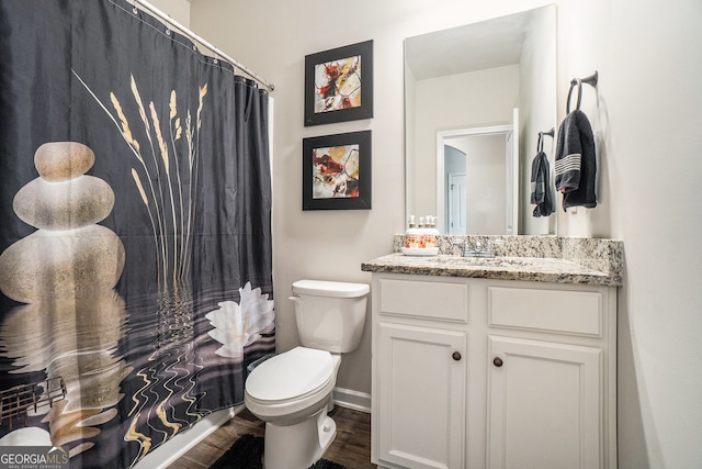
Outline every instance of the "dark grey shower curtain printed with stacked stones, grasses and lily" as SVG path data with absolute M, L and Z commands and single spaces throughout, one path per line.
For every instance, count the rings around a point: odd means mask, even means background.
M 131 467 L 242 402 L 274 350 L 268 100 L 126 1 L 0 1 L 0 437 Z

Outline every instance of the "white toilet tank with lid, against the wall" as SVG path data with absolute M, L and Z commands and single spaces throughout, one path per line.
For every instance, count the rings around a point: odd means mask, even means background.
M 363 335 L 370 291 L 365 283 L 294 282 L 291 300 L 302 345 L 338 354 L 354 350 Z

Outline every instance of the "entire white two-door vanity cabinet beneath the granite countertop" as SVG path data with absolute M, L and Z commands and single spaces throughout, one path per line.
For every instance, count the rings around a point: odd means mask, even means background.
M 615 287 L 373 273 L 381 468 L 616 467 Z

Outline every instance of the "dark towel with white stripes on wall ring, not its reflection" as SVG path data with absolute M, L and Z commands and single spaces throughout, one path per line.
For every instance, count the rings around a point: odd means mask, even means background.
M 566 115 L 558 129 L 556 189 L 563 193 L 563 210 L 597 206 L 595 194 L 595 137 L 590 121 L 580 110 Z

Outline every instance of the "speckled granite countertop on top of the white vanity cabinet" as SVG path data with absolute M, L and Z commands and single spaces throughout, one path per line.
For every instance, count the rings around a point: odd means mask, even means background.
M 511 243 L 511 250 L 496 253 L 495 257 L 462 257 L 444 254 L 448 249 L 440 249 L 437 256 L 406 256 L 401 253 L 393 253 L 387 256 L 362 263 L 361 270 L 367 272 L 405 273 L 439 277 L 467 277 L 495 280 L 522 280 L 541 281 L 552 283 L 574 283 L 592 286 L 622 286 L 622 246 L 620 242 L 607 241 L 607 249 L 602 249 L 602 243 L 597 243 L 595 249 L 578 247 L 578 254 L 586 256 L 571 256 L 564 258 L 561 247 L 552 249 L 551 255 L 534 253 L 524 249 L 520 245 L 523 239 Z M 577 239 L 569 238 L 564 246 L 573 252 L 573 244 L 580 244 Z M 553 241 L 550 243 L 553 244 Z M 588 242 L 588 244 L 591 244 Z M 442 253 L 443 252 L 443 253 Z M 502 254 L 502 255 L 500 255 Z M 531 255 L 531 256 L 530 256 Z M 591 261 L 592 258 L 598 263 Z

